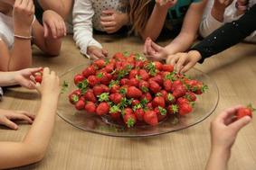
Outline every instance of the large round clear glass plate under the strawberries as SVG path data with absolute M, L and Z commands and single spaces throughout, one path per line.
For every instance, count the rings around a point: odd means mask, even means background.
M 115 124 L 109 121 L 108 117 L 100 117 L 87 112 L 76 111 L 74 106 L 69 102 L 68 95 L 76 88 L 73 84 L 73 77 L 87 67 L 81 65 L 71 68 L 61 76 L 61 82 L 66 81 L 69 87 L 61 94 L 58 115 L 81 130 L 108 135 L 114 137 L 147 137 L 183 130 L 204 121 L 215 110 L 219 101 L 219 91 L 213 79 L 198 69 L 191 69 L 186 75 L 196 80 L 204 82 L 209 89 L 205 94 L 197 95 L 194 110 L 188 115 L 180 117 L 168 117 L 165 121 L 160 122 L 156 127 L 147 125 L 126 128 L 125 126 Z

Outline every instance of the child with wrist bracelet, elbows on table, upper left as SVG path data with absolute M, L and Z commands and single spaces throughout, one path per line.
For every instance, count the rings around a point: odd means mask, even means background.
M 43 52 L 52 56 L 59 54 L 62 44 L 59 37 L 64 34 L 64 23 L 54 19 L 56 13 L 50 10 L 45 11 L 43 20 L 51 22 L 51 30 L 57 33 L 43 32 L 43 26 L 34 20 L 33 0 L 16 0 L 15 2 L 2 0 L 0 12 L 0 71 L 19 70 L 31 66 L 33 37 L 34 43 Z

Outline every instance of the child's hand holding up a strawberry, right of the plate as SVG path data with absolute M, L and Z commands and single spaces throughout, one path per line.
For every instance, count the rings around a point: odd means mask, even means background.
M 235 112 L 242 106 L 236 106 L 220 113 L 211 124 L 212 147 L 229 150 L 232 148 L 237 133 L 251 121 L 245 116 L 238 121 L 233 121 Z

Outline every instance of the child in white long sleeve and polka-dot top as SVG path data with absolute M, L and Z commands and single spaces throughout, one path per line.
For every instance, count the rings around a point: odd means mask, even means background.
M 93 39 L 92 29 L 114 33 L 128 25 L 127 0 L 76 0 L 73 8 L 74 40 L 88 58 L 105 58 L 108 51 Z

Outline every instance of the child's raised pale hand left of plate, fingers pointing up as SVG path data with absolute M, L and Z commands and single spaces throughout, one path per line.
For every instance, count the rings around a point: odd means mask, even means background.
M 60 79 L 54 71 L 50 71 L 49 67 L 43 69 L 43 81 L 41 85 L 36 83 L 36 90 L 42 94 L 43 98 L 52 100 L 59 97 L 61 92 Z

